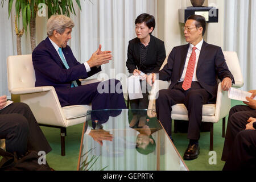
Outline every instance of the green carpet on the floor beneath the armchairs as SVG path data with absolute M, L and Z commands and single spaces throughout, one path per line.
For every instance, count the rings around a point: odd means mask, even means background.
M 232 106 L 242 104 L 242 102 L 232 101 Z M 226 124 L 228 118 L 226 118 Z M 172 122 L 174 123 L 174 122 Z M 82 135 L 82 124 L 71 126 L 67 128 L 67 137 L 65 137 L 66 155 L 60 155 L 60 129 L 53 129 L 49 127 L 41 127 L 44 135 L 52 147 L 52 151 L 47 154 L 46 159 L 53 169 L 56 171 L 76 171 L 77 162 L 79 159 L 80 142 Z M 224 162 L 221 161 L 222 148 L 224 145 L 224 138 L 222 138 L 222 121 L 213 125 L 214 138 L 213 138 L 213 150 L 217 154 L 217 164 L 209 164 L 209 143 L 210 133 L 201 133 L 200 144 L 200 155 L 199 158 L 191 161 L 185 161 L 188 169 L 191 171 L 221 171 Z M 174 126 L 172 127 L 174 129 Z M 187 134 L 173 134 L 175 146 L 183 156 L 187 146 L 188 139 Z

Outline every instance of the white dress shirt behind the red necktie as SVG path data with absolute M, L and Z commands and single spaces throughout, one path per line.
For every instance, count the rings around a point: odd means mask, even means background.
M 183 69 L 183 73 L 182 73 L 182 76 L 181 76 L 179 82 L 183 82 L 184 81 L 184 78 L 185 78 L 185 75 L 186 75 L 186 72 L 187 72 L 187 68 L 188 68 L 188 61 L 189 61 L 189 58 L 190 58 L 190 56 L 192 54 L 192 51 L 193 51 L 192 48 L 193 47 L 196 47 L 196 65 L 195 65 L 195 71 L 194 71 L 194 75 L 193 75 L 192 81 L 198 81 L 197 77 L 196 77 L 196 69 L 197 69 L 197 63 L 198 63 L 198 60 L 199 60 L 199 55 L 200 55 L 203 43 L 204 43 L 204 39 L 202 39 L 201 42 L 198 43 L 196 46 L 193 46 L 192 44 L 189 44 L 187 59 L 186 59 L 185 66 L 184 66 L 184 69 Z

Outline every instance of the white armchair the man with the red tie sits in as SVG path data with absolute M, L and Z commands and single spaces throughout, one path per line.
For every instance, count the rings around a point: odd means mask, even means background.
M 240 63 L 236 52 L 224 52 L 226 64 L 228 64 L 230 72 L 234 76 L 236 84 L 233 87 L 241 88 L 243 86 L 243 76 L 240 68 Z M 168 56 L 162 65 L 162 68 L 167 63 Z M 150 102 L 148 105 L 147 114 L 149 117 L 156 117 L 155 98 L 159 90 L 168 89 L 170 82 L 156 80 L 152 87 Z M 231 109 L 231 101 L 228 98 L 228 92 L 221 89 L 221 83 L 218 85 L 216 104 L 203 105 L 203 122 L 210 122 L 210 151 L 213 150 L 213 123 L 217 123 L 222 119 L 222 137 L 225 137 L 225 117 Z M 188 121 L 188 111 L 184 104 L 172 106 L 172 119 Z

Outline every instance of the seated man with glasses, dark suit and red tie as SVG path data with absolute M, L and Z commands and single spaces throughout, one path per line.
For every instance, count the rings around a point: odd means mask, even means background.
M 160 90 L 156 100 L 158 119 L 170 137 L 172 106 L 182 103 L 188 110 L 189 144 L 183 156 L 185 160 L 196 159 L 199 155 L 203 105 L 216 101 L 216 77 L 222 81 L 223 90 L 228 90 L 234 82 L 221 48 L 204 42 L 205 28 L 203 16 L 190 16 L 183 29 L 189 44 L 174 47 L 168 63 L 159 72 L 159 80 L 171 80 L 169 89 Z M 150 84 L 155 79 L 155 74 L 148 76 Z

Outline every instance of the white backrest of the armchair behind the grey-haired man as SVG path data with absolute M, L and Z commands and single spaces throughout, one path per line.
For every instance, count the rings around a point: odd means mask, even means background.
M 31 88 L 35 86 L 35 71 L 32 55 L 9 56 L 7 58 L 8 87 Z

